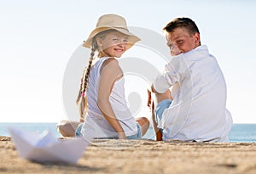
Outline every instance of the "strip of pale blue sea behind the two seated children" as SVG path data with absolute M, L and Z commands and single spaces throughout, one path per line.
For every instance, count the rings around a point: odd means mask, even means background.
M 56 130 L 56 123 L 0 123 L 0 135 L 10 136 L 8 127 L 20 127 L 29 132 L 38 132 L 38 134 L 49 130 L 56 138 L 60 138 L 61 134 Z M 154 139 L 154 131 L 149 127 L 148 132 L 143 138 Z M 256 124 L 233 124 L 230 131 L 231 143 L 256 143 Z

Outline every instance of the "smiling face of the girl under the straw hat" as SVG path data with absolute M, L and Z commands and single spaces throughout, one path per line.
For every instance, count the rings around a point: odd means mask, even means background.
M 105 36 L 96 38 L 101 56 L 119 58 L 125 53 L 128 36 L 119 31 L 111 31 Z

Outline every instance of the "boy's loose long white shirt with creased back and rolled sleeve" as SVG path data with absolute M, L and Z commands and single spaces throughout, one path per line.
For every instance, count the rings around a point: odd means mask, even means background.
M 158 123 L 164 140 L 229 141 L 232 117 L 225 108 L 226 83 L 207 46 L 173 57 L 153 85 L 159 93 L 172 87 L 172 104 Z

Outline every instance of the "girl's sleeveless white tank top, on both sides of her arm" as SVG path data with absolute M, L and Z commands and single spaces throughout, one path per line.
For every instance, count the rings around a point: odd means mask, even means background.
M 108 57 L 103 57 L 96 61 L 90 69 L 90 76 L 88 87 L 86 89 L 88 112 L 85 115 L 84 124 L 81 133 L 84 137 L 88 138 L 111 138 L 118 137 L 117 132 L 102 115 L 102 111 L 97 106 L 98 85 L 100 80 L 100 70 L 103 62 Z M 123 127 L 126 136 L 131 136 L 137 133 L 137 123 L 131 115 L 126 100 L 125 100 L 125 87 L 124 77 L 119 81 L 115 81 L 112 92 L 109 96 L 109 102 L 113 108 L 113 112 L 117 117 L 120 125 Z

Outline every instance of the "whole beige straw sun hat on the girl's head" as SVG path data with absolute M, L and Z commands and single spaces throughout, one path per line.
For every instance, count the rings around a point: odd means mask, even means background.
M 102 31 L 108 31 L 110 29 L 113 29 L 115 31 L 119 31 L 119 32 L 129 36 L 128 42 L 130 44 L 129 44 L 128 48 L 131 48 L 131 46 L 134 43 L 141 40 L 139 37 L 133 35 L 128 30 L 128 27 L 126 25 L 126 21 L 123 17 L 121 17 L 117 14 L 104 14 L 98 19 L 98 21 L 96 23 L 96 28 L 93 31 L 90 32 L 90 36 L 84 42 L 83 46 L 85 48 L 90 48 L 93 37 L 96 36 L 96 34 L 102 32 Z

